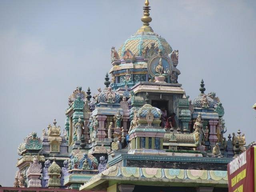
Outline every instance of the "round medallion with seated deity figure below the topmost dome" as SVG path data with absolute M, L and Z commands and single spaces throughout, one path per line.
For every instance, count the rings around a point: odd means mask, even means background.
M 172 66 L 172 61 L 166 56 L 156 55 L 148 60 L 148 72 L 152 77 L 170 75 Z

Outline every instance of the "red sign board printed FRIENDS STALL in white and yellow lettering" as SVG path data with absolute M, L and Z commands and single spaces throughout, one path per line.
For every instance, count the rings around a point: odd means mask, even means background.
M 254 147 L 228 164 L 228 192 L 254 192 Z

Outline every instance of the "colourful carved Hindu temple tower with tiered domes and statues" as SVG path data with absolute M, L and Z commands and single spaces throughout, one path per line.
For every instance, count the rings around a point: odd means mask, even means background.
M 228 191 L 227 164 L 246 150 L 245 136 L 226 133 L 224 104 L 203 80 L 188 96 L 179 51 L 150 27 L 148 0 L 143 10 L 142 27 L 111 48 L 98 92 L 70 88 L 65 127 L 53 117 L 18 146 L 14 187 Z

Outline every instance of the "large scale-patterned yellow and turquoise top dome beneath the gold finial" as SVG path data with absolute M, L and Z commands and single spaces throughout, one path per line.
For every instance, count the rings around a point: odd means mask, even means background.
M 124 56 L 126 50 L 130 50 L 134 56 L 143 56 L 154 46 L 154 49 L 162 50 L 163 54 L 172 52 L 168 42 L 154 32 L 136 32 L 130 36 L 119 48 L 118 55 Z

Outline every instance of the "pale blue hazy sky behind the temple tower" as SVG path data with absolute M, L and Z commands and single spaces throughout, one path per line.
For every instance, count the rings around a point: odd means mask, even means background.
M 0 184 L 12 186 L 16 148 L 56 118 L 64 128 L 78 85 L 104 87 L 116 49 L 142 26 L 144 0 L 0 0 Z M 255 140 L 256 1 L 150 0 L 154 32 L 179 50 L 179 83 L 194 99 L 204 79 L 225 108 L 227 133 Z M 227 136 L 227 135 L 226 135 Z

